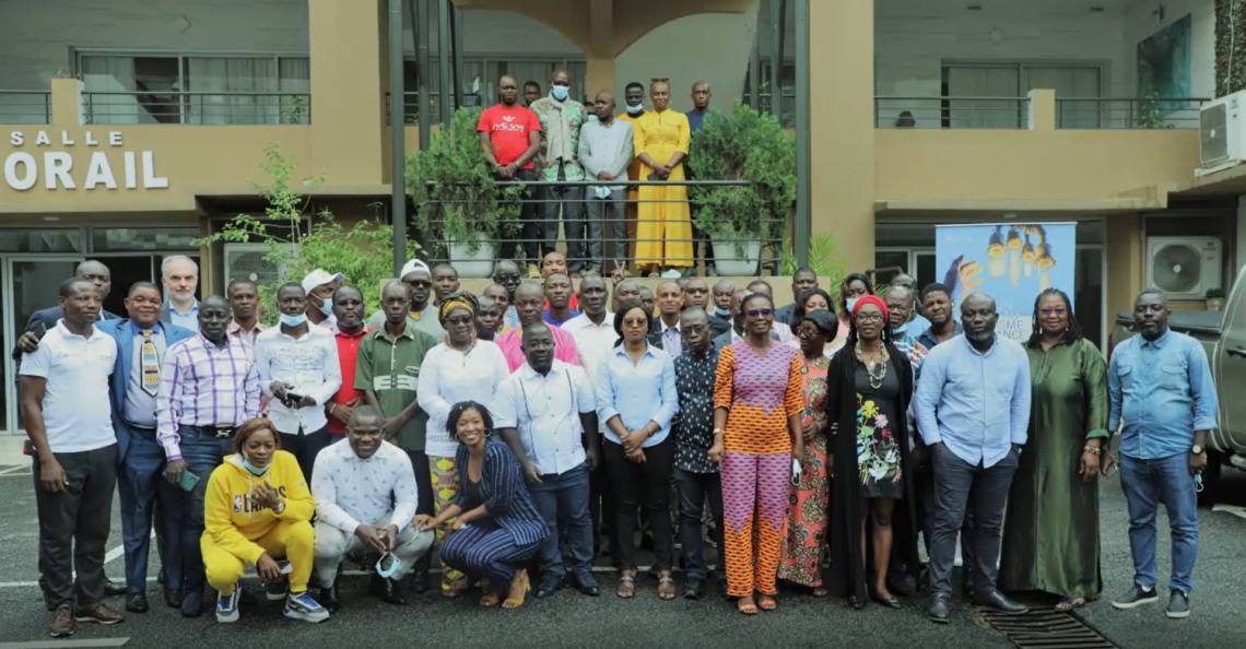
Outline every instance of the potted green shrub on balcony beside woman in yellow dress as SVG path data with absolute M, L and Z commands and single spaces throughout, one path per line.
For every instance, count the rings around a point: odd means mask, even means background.
M 697 225 L 710 234 L 724 275 L 754 275 L 764 240 L 785 229 L 796 201 L 796 146 L 773 115 L 736 102 L 731 115 L 711 112 L 692 138 L 688 166 L 699 179 L 740 186 L 689 187 Z

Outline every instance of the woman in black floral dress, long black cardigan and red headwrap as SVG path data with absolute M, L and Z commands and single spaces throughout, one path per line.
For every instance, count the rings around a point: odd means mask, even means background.
M 918 568 L 917 526 L 907 506 L 913 493 L 905 415 L 913 374 L 907 356 L 891 344 L 881 299 L 857 299 L 849 324 L 847 344 L 835 354 L 826 375 L 827 419 L 839 422 L 830 440 L 830 582 L 855 608 L 865 605 L 867 594 L 885 607 L 900 608 L 887 590 L 892 546 L 911 574 Z M 873 558 L 872 576 L 866 571 L 867 556 Z

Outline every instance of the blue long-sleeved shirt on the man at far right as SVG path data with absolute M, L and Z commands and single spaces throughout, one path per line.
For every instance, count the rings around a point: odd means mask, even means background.
M 1216 427 L 1216 389 L 1202 345 L 1176 331 L 1118 345 L 1108 366 L 1108 431 L 1121 420 L 1123 455 L 1154 460 L 1190 452 L 1194 431 Z

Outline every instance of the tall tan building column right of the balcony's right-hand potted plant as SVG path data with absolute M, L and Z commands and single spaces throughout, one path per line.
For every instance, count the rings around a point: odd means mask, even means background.
M 873 268 L 873 0 L 809 4 L 810 220 L 844 268 Z

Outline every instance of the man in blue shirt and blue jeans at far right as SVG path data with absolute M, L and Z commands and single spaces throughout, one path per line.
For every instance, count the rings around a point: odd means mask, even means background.
M 1187 618 L 1199 553 L 1195 476 L 1207 466 L 1204 443 L 1216 427 L 1216 390 L 1202 345 L 1170 331 L 1169 314 L 1163 293 L 1140 293 L 1134 300 L 1139 335 L 1116 346 L 1108 370 L 1108 430 L 1124 424 L 1120 486 L 1134 556 L 1134 585 L 1111 605 L 1129 609 L 1159 599 L 1155 513 L 1163 502 L 1172 537 L 1168 617 Z

